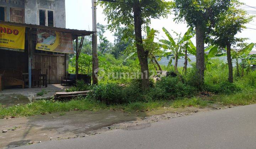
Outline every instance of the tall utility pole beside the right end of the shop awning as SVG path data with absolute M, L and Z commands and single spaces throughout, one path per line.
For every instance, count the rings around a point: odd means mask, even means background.
M 98 84 L 97 15 L 96 0 L 92 0 L 92 84 Z

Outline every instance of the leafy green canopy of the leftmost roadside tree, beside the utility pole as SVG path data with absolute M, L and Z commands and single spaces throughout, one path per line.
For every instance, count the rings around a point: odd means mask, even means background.
M 104 7 L 104 14 L 108 21 L 108 28 L 113 31 L 121 24 L 130 26 L 134 24 L 133 20 L 133 5 L 139 2 L 141 9 L 142 23 L 148 25 L 151 18 L 167 17 L 170 13 L 173 2 L 164 0 L 116 0 L 115 2 L 101 1 L 101 6 Z

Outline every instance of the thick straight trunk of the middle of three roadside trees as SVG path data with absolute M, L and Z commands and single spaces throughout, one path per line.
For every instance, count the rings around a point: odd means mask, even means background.
M 205 28 L 201 22 L 198 22 L 196 25 L 196 68 L 199 87 L 204 83 L 204 39 Z

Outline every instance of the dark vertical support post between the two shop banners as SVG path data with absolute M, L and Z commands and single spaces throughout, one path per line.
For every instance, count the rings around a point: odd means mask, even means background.
M 31 60 L 32 54 L 32 38 L 31 38 L 32 28 L 30 28 L 30 32 L 28 33 L 28 88 L 32 87 L 32 73 L 31 73 Z

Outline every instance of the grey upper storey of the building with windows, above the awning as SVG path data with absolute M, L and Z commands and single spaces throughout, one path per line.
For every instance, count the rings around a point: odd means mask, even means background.
M 0 0 L 0 21 L 66 27 L 65 0 Z

